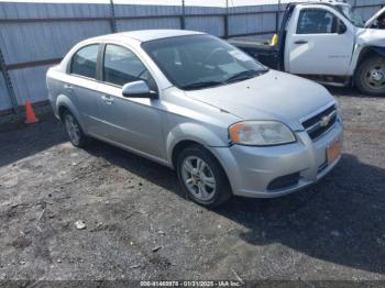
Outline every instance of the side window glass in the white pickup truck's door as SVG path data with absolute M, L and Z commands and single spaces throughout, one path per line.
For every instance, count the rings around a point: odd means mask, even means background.
M 297 34 L 337 33 L 338 19 L 322 9 L 307 9 L 299 14 Z

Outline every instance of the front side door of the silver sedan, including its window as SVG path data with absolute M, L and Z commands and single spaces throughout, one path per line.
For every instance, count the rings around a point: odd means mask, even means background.
M 164 134 L 160 99 L 127 98 L 123 85 L 145 80 L 156 85 L 139 57 L 129 48 L 107 44 L 101 59 L 99 111 L 103 137 L 147 155 L 164 158 Z

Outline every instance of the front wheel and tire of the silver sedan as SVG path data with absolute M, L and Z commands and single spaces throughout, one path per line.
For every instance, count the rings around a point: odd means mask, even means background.
M 230 199 L 231 187 L 223 168 L 202 146 L 191 145 L 183 149 L 176 168 L 184 191 L 195 202 L 213 208 Z

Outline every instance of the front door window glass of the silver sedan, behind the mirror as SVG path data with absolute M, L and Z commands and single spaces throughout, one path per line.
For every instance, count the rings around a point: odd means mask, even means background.
M 123 86 L 138 80 L 151 82 L 150 73 L 143 63 L 130 49 L 108 44 L 103 60 L 103 81 Z

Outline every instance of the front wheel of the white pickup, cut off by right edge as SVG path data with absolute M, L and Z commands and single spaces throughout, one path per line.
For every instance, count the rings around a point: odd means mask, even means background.
M 355 85 L 364 95 L 385 97 L 385 58 L 375 56 L 364 60 L 355 73 Z

